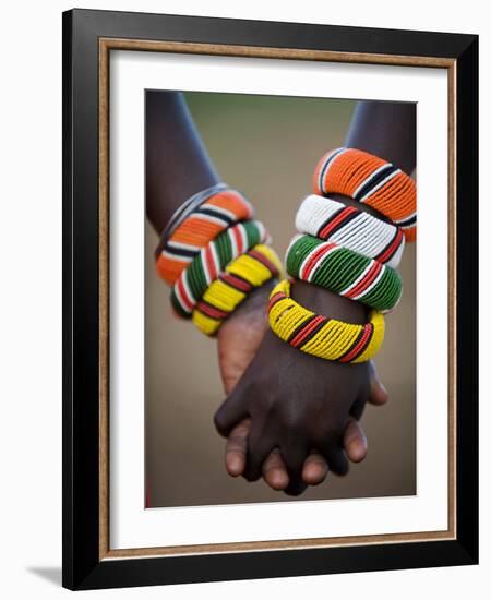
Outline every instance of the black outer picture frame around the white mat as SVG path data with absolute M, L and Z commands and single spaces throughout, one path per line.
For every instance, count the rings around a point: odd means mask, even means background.
M 62 23 L 62 585 L 75 590 L 476 564 L 478 36 L 93 10 L 68 11 L 63 13 Z M 266 552 L 101 559 L 98 478 L 101 385 L 98 244 L 101 38 L 319 50 L 375 57 L 433 57 L 453 61 L 457 213 L 455 539 Z

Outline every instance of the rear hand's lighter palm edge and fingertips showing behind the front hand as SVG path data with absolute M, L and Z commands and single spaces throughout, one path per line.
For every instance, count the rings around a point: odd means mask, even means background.
M 264 307 L 266 305 L 267 289 L 258 290 L 253 297 L 227 320 L 218 334 L 218 356 L 221 379 L 226 393 L 230 393 L 253 359 L 264 333 L 267 329 L 267 320 Z M 387 400 L 387 394 L 380 383 L 374 365 L 370 363 L 369 401 L 382 405 Z M 246 467 L 247 439 L 250 431 L 250 420 L 244 420 L 231 430 L 226 447 L 226 468 L 232 477 L 243 473 Z M 367 454 L 367 439 L 363 430 L 355 418 L 348 420 L 343 445 L 348 458 L 358 463 Z M 285 490 L 289 485 L 289 478 L 278 449 L 274 449 L 262 468 L 265 482 L 275 490 Z M 321 483 L 327 473 L 327 464 L 323 456 L 311 451 L 302 468 L 304 484 Z M 303 485 L 303 489 L 307 485 Z M 300 487 L 301 488 L 301 487 Z M 297 487 L 297 493 L 303 491 Z M 291 491 L 291 487 L 289 488 Z

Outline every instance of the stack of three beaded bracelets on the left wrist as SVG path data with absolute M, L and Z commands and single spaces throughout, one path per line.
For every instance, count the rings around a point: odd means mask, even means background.
M 175 213 L 155 252 L 160 277 L 172 286 L 177 315 L 215 335 L 256 288 L 282 273 L 270 236 L 251 204 L 219 183 Z

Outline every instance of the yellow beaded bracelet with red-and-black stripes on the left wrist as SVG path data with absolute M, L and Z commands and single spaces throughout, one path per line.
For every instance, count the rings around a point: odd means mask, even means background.
M 282 263 L 267 245 L 254 245 L 232 261 L 204 292 L 193 311 L 193 323 L 206 335 L 215 335 L 221 323 L 254 289 L 282 273 Z

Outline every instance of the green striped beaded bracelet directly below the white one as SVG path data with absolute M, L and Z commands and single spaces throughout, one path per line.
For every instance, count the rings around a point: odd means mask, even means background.
M 286 269 L 291 277 L 381 312 L 392 310 L 403 291 L 400 276 L 392 267 L 308 235 L 295 236 L 291 240 Z

